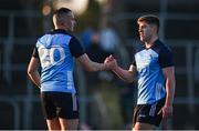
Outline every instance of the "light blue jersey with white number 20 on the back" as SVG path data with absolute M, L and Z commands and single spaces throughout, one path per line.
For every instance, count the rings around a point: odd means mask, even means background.
M 75 93 L 73 59 L 82 54 L 84 50 L 80 41 L 64 30 L 54 30 L 41 37 L 33 52 L 41 62 L 41 91 Z

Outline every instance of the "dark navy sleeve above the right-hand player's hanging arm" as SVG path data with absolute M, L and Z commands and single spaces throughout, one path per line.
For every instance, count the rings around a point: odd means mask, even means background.
M 172 52 L 169 49 L 163 49 L 159 54 L 159 64 L 160 68 L 167 68 L 167 67 L 172 67 L 174 66 L 174 58 L 172 58 Z

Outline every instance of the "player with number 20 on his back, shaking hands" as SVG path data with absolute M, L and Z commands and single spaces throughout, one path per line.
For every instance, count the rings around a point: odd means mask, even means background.
M 90 60 L 80 41 L 71 33 L 75 18 L 70 9 L 53 14 L 54 30 L 39 38 L 28 74 L 41 90 L 43 113 L 49 130 L 76 130 L 78 107 L 73 81 L 74 58 L 87 71 L 108 69 L 109 63 Z M 41 75 L 38 71 L 41 66 Z

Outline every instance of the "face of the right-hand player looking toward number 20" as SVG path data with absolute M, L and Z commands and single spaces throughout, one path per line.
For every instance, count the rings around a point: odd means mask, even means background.
M 146 23 L 145 21 L 139 22 L 138 26 L 140 41 L 149 42 L 154 33 L 153 26 Z

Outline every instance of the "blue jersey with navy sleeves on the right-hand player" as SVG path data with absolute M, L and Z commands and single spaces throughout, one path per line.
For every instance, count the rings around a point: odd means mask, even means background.
M 166 97 L 163 68 L 172 67 L 171 51 L 156 40 L 149 49 L 142 47 L 134 56 L 133 64 L 138 72 L 137 104 L 153 103 Z

